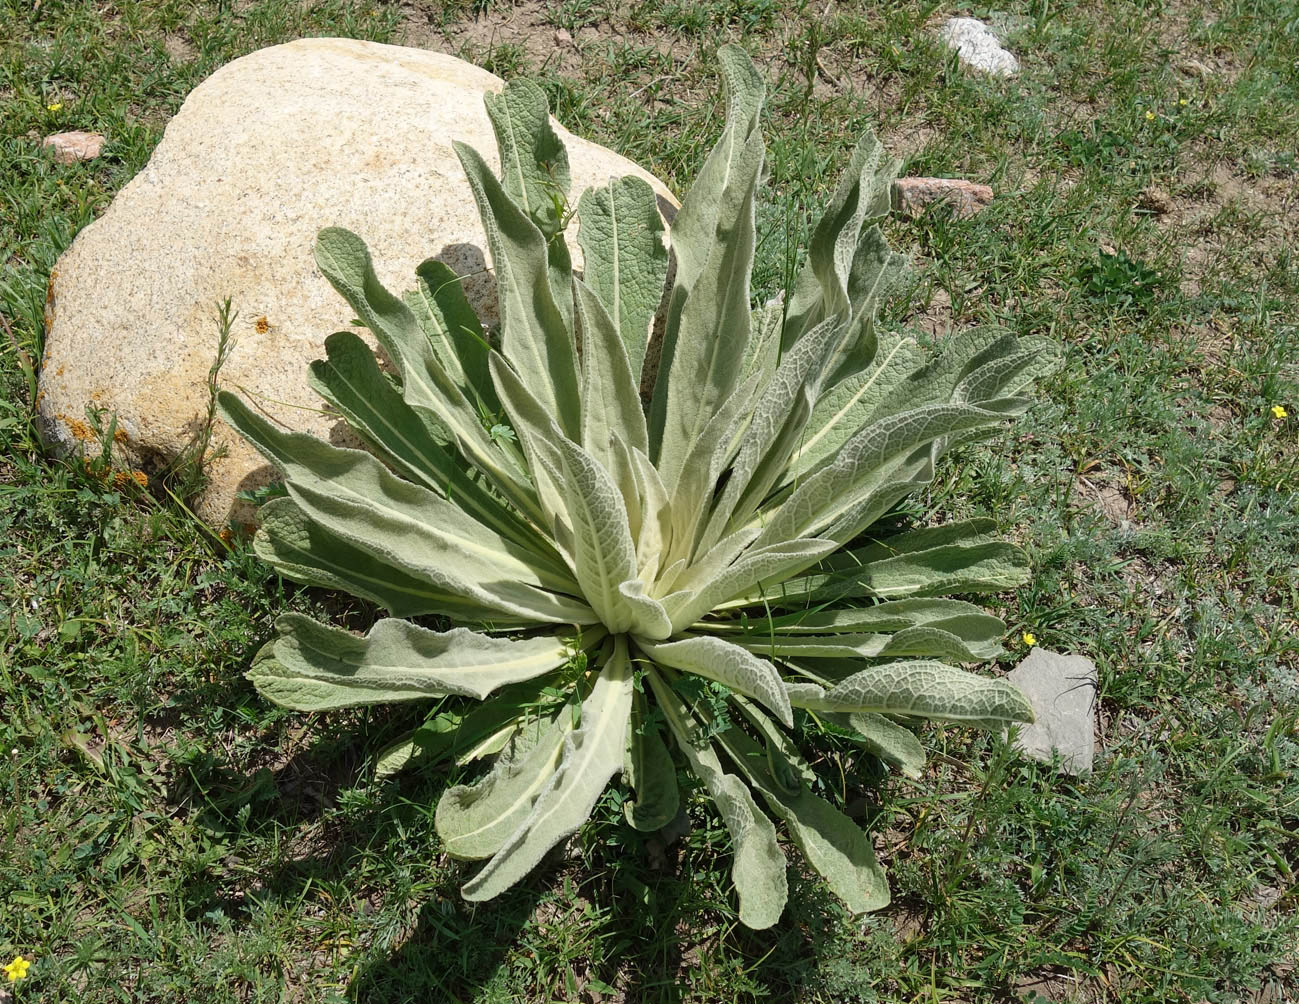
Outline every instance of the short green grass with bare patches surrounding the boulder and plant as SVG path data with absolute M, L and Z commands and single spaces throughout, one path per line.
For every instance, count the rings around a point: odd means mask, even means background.
M 0 953 L 35 960 L 18 1000 L 1299 994 L 1299 21 L 1283 0 L 1212 18 L 1009 3 L 1024 73 L 1000 82 L 934 44 L 946 13 L 0 3 L 0 312 L 16 340 L 0 340 Z M 508 29 L 491 42 L 494 25 Z M 455 777 L 372 779 L 418 712 L 299 716 L 240 675 L 286 607 L 359 626 L 373 612 L 282 584 L 165 494 L 35 446 L 22 358 L 42 355 L 49 268 L 208 73 L 304 34 L 535 71 L 529 35 L 557 27 L 581 45 L 543 71 L 559 117 L 678 188 L 720 127 L 713 47 L 755 52 L 773 87 L 763 295 L 877 126 L 907 173 L 998 191 L 970 220 L 938 207 L 892 223 L 917 273 L 890 322 L 940 338 L 996 321 L 1068 345 L 1040 407 L 908 512 L 991 514 L 1030 548 L 1034 583 L 1000 612 L 1012 639 L 1095 660 L 1096 770 L 1068 778 L 956 729 L 925 731 L 918 782 L 811 748 L 842 779 L 827 794 L 877 835 L 895 894 L 882 913 L 844 916 L 795 868 L 782 922 L 748 931 L 701 803 L 665 846 L 622 823 L 616 790 L 549 866 L 469 907 L 433 826 Z M 104 132 L 105 155 L 53 165 L 34 138 L 60 129 Z

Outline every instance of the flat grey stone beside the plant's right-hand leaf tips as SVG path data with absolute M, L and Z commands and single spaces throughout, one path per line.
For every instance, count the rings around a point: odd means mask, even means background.
M 1050 761 L 1060 751 L 1069 774 L 1091 772 L 1095 748 L 1092 709 L 1096 703 L 1096 666 L 1083 656 L 1061 656 L 1034 648 L 1007 675 L 1024 691 L 1037 722 L 1020 727 L 1016 746 L 1035 760 Z

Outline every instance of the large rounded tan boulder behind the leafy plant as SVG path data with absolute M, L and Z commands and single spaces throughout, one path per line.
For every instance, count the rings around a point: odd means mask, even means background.
M 503 82 L 422 49 L 301 39 L 217 70 L 190 95 L 148 165 L 87 226 L 51 277 L 40 417 L 47 440 L 79 448 L 87 408 L 117 416 L 121 461 L 157 470 L 186 449 L 208 405 L 217 304 L 239 312 L 221 386 L 284 425 L 339 440 L 317 410 L 307 366 L 352 312 L 316 269 L 318 230 L 343 226 L 370 245 L 395 292 L 436 256 L 466 274 L 486 321 L 496 317 L 486 240 L 452 140 L 495 164 L 483 94 Z M 556 123 L 557 125 L 557 123 Z M 573 199 L 631 161 L 562 127 Z M 568 234 L 581 268 L 577 227 Z M 220 423 L 199 514 L 248 517 L 235 492 L 270 469 Z

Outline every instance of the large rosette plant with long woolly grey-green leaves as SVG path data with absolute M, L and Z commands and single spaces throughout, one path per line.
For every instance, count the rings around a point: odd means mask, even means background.
M 249 670 L 257 690 L 305 712 L 481 701 L 443 705 L 381 764 L 494 757 L 436 808 L 447 851 L 486 862 L 468 900 L 523 878 L 611 781 L 631 826 L 662 827 L 685 768 L 730 833 L 746 925 L 774 923 L 786 901 L 772 817 L 848 908 L 878 909 L 872 840 L 814 794 L 799 730 L 916 775 L 922 720 L 1033 718 L 1012 686 L 957 668 L 995 657 L 1004 625 L 947 599 L 1024 583 L 1025 553 L 991 520 L 878 523 L 944 453 L 1022 413 L 1055 349 L 981 329 L 927 360 L 877 323 L 904 264 L 877 225 L 896 161 L 869 134 L 792 288 L 755 308 L 764 84 L 739 48 L 718 58 L 726 123 L 670 236 L 638 178 L 572 210 L 544 94 L 488 95 L 501 175 L 456 152 L 496 281 L 491 336 L 444 264 L 425 261 L 397 297 L 359 236 L 321 232 L 321 270 L 399 374 L 352 331 L 312 364 L 368 451 L 220 399 L 284 477 L 257 553 L 391 614 L 364 636 L 284 614 Z

